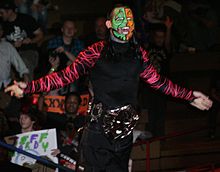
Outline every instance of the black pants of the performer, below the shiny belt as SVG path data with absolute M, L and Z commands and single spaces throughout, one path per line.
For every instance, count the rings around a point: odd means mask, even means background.
M 100 124 L 90 123 L 80 145 L 80 164 L 85 167 L 85 172 L 128 172 L 132 136 L 109 140 Z

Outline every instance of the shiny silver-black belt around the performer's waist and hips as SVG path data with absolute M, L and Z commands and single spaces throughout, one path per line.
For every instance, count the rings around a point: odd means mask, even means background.
M 104 133 L 113 140 L 130 135 L 139 119 L 131 105 L 106 110 L 98 103 L 93 105 L 90 114 L 91 121 L 101 122 Z

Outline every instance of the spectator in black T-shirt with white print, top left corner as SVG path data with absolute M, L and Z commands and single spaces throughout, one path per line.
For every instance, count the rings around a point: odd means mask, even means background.
M 10 0 L 0 2 L 0 14 L 6 40 L 18 50 L 33 79 L 34 69 L 38 64 L 37 44 L 43 38 L 43 32 L 33 17 L 16 12 L 16 6 Z

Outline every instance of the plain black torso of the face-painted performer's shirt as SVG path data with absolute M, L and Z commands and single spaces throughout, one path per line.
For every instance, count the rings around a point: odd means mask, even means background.
M 108 57 L 100 58 L 91 70 L 94 102 L 102 102 L 107 108 L 136 106 L 141 60 L 135 58 L 129 43 L 112 44 L 113 53 L 107 50 Z

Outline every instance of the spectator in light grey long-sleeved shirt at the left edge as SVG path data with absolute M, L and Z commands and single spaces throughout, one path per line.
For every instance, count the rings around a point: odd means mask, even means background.
M 2 24 L 0 23 L 0 33 L 3 33 Z M 16 112 L 13 111 L 18 107 L 19 101 L 16 99 L 10 99 L 7 95 L 3 92 L 3 88 L 6 87 L 12 80 L 14 80 L 14 76 L 12 75 L 13 72 L 19 74 L 19 78 L 23 79 L 25 82 L 28 81 L 28 69 L 25 66 L 23 60 L 21 59 L 20 55 L 18 54 L 17 50 L 7 41 L 1 39 L 0 37 L 0 109 L 2 112 L 6 113 L 8 116 L 8 120 L 11 122 L 9 126 L 11 128 L 16 129 L 16 122 L 17 116 Z M 14 67 L 14 68 L 13 68 Z M 15 69 L 15 70 L 12 70 Z M 12 72 L 13 71 L 13 72 Z M 10 125 L 12 124 L 12 125 Z

